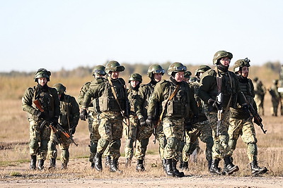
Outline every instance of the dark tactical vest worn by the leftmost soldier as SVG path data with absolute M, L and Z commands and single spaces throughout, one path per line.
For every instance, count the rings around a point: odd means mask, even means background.
M 43 91 L 42 89 L 38 89 L 36 86 L 33 87 L 33 101 L 39 100 L 40 104 L 47 113 L 49 118 L 54 117 L 54 96 L 52 96 L 52 92 L 50 92 L 50 87 L 48 87 L 47 91 Z M 33 107 L 38 109 L 35 104 Z M 32 118 L 33 120 L 39 120 L 37 116 L 28 113 L 28 118 Z

